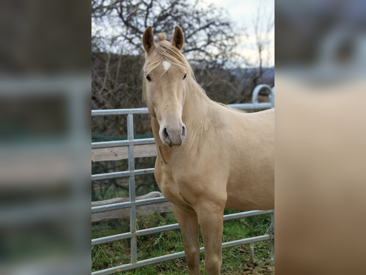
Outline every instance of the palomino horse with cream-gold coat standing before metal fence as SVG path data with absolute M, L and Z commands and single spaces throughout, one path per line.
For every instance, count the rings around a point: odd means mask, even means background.
M 143 33 L 143 97 L 157 147 L 155 178 L 183 235 L 189 274 L 199 274 L 198 223 L 207 274 L 220 274 L 224 208 L 274 208 L 274 109 L 241 113 L 210 100 L 180 51 L 152 27 Z

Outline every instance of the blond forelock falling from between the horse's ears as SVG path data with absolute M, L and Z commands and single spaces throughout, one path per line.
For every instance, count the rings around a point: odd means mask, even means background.
M 188 63 L 186 57 L 182 52 L 174 47 L 172 43 L 167 41 L 167 36 L 164 33 L 158 35 L 159 43 L 155 44 L 155 48 L 149 53 L 149 55 L 157 55 L 157 60 L 152 62 L 145 62 L 142 68 L 143 71 L 143 85 L 142 85 L 142 100 L 146 99 L 146 75 L 153 69 L 157 68 L 163 60 L 167 60 L 170 63 L 178 66 L 183 66 L 187 69 L 187 79 L 195 81 L 194 73 L 191 65 Z M 165 73 L 165 72 L 164 72 Z

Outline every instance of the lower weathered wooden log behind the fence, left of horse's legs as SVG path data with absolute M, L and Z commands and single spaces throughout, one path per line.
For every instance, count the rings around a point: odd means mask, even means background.
M 163 194 L 161 194 L 161 192 L 153 191 L 150 192 L 149 194 L 136 197 L 136 200 L 138 201 L 140 199 L 149 199 L 157 197 L 163 197 Z M 127 202 L 127 201 L 129 201 L 128 198 L 107 199 L 105 201 L 91 202 L 91 207 L 99 205 L 107 205 L 112 203 L 119 203 L 119 202 Z M 172 205 L 170 202 L 159 202 L 150 205 L 136 206 L 137 217 L 141 215 L 149 215 L 151 213 L 167 213 L 167 212 L 172 212 Z M 91 223 L 96 223 L 100 221 L 119 220 L 119 219 L 126 220 L 129 218 L 130 218 L 130 208 L 123 208 L 91 214 Z

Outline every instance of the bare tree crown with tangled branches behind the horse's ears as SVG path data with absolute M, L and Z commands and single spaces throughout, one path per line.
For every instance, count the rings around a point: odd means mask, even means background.
M 141 38 L 150 25 L 154 33 L 168 36 L 174 25 L 180 26 L 184 31 L 184 54 L 196 62 L 223 64 L 236 45 L 227 14 L 213 4 L 203 7 L 201 0 L 193 5 L 185 0 L 93 0 L 92 21 L 94 48 L 108 36 L 113 41 L 109 50 L 116 51 L 124 41 L 126 54 L 143 53 Z

